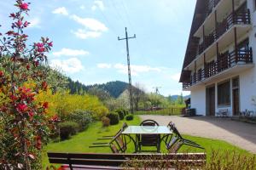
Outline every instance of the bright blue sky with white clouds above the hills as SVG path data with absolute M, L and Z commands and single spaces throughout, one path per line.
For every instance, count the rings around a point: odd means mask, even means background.
M 0 32 L 9 30 L 15 0 L 0 0 Z M 131 57 L 131 82 L 165 96 L 189 94 L 178 83 L 195 0 L 30 0 L 25 30 L 30 42 L 54 42 L 49 65 L 85 85 L 128 82 L 125 37 Z

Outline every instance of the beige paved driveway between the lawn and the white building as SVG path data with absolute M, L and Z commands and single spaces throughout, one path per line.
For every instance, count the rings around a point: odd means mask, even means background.
M 222 117 L 182 117 L 182 116 L 141 116 L 143 120 L 153 119 L 160 125 L 172 121 L 184 134 L 211 139 L 221 139 L 256 153 L 256 125 L 236 122 Z

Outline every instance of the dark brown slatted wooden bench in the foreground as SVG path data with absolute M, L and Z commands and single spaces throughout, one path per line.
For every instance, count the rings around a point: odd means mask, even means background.
M 136 163 L 167 163 L 176 167 L 202 167 L 206 163 L 205 153 L 177 153 L 177 154 L 106 154 L 106 153 L 54 153 L 48 152 L 49 163 L 62 164 L 63 170 L 71 169 L 124 169 L 122 165 Z M 63 165 L 64 164 L 64 165 Z M 66 164 L 66 166 L 65 166 Z M 151 164 L 150 164 L 151 165 Z

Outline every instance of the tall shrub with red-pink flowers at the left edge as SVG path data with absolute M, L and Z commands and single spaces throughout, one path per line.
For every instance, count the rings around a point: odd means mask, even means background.
M 47 142 L 57 116 L 48 116 L 47 102 L 37 102 L 35 96 L 47 91 L 47 72 L 42 67 L 53 43 L 49 38 L 26 45 L 24 29 L 30 25 L 25 20 L 29 4 L 16 0 L 18 12 L 9 17 L 13 20 L 11 30 L 0 33 L 0 169 L 38 169 L 40 150 Z M 28 81 L 35 82 L 26 88 Z

